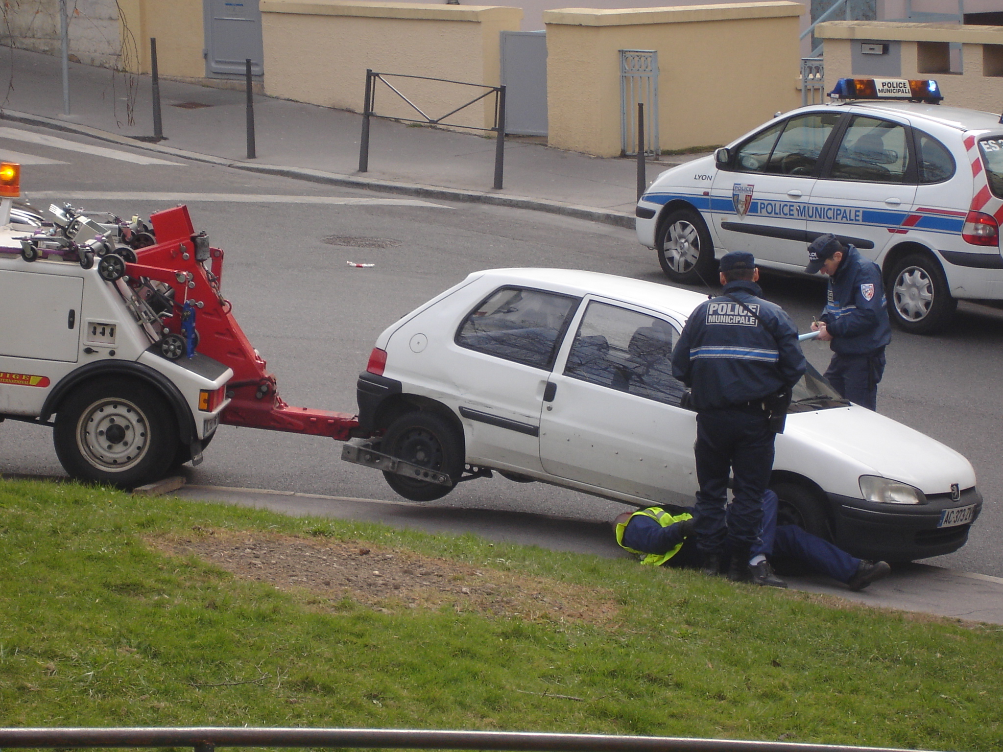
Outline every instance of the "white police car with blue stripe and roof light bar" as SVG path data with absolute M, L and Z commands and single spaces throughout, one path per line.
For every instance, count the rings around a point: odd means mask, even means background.
M 833 233 L 881 266 L 906 331 L 942 328 L 959 299 L 1003 299 L 1000 116 L 941 106 L 931 80 L 845 78 L 829 96 L 658 176 L 637 236 L 665 275 L 712 282 L 738 250 L 800 273 Z

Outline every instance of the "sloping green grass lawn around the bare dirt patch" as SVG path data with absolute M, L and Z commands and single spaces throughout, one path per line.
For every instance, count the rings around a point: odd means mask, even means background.
M 579 613 L 280 589 L 161 545 L 229 531 L 446 559 Z M 992 626 L 473 536 L 0 480 L 0 726 L 998 750 L 1001 677 L 1003 631 Z

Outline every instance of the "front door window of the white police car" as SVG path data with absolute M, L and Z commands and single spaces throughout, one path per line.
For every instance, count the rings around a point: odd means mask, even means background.
M 839 112 L 809 112 L 791 117 L 740 146 L 736 168 L 743 172 L 809 175 L 839 120 Z

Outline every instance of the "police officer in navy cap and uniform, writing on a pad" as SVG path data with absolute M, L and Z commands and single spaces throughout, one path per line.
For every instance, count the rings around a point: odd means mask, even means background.
M 846 399 L 877 410 L 885 346 L 892 341 L 881 269 L 830 234 L 808 246 L 808 259 L 805 272 L 828 275 L 828 302 L 821 321 L 811 325 L 832 350 L 825 378 Z

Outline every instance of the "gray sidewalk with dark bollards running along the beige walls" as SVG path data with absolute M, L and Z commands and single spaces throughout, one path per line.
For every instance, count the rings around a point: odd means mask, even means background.
M 129 76 L 136 87 L 128 124 L 123 73 L 70 63 L 70 111 L 62 115 L 62 79 L 55 56 L 4 49 L 0 82 L 9 81 L 0 117 L 59 127 L 130 146 L 333 184 L 375 187 L 413 196 L 554 212 L 634 227 L 637 164 L 549 148 L 539 138 L 506 143 L 505 187 L 493 191 L 492 138 L 373 118 L 369 171 L 357 171 L 361 115 L 256 95 L 256 159 L 247 159 L 243 91 L 160 81 L 163 133 L 152 145 L 132 140 L 153 132 L 149 76 Z M 359 83 L 360 90 L 362 82 Z M 195 108 L 177 105 L 203 105 Z M 96 130 L 95 130 L 96 129 Z M 99 131 L 99 132 L 98 132 Z M 662 169 L 699 154 L 651 162 Z M 664 157 L 663 157 L 664 158 Z

